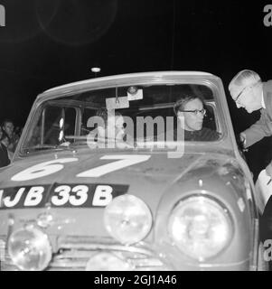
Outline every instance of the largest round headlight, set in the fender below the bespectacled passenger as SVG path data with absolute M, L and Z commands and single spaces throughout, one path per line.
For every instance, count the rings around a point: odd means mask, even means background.
M 220 204 L 207 197 L 181 200 L 174 208 L 168 231 L 184 254 L 199 261 L 216 256 L 232 237 L 230 216 Z

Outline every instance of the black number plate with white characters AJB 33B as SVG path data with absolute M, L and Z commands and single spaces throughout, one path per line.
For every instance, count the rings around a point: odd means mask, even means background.
M 127 193 L 128 185 L 91 183 L 35 185 L 0 189 L 0 210 L 42 208 L 106 207 L 119 195 Z

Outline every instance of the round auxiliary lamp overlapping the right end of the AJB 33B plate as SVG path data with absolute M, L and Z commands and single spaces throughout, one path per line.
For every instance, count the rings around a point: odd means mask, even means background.
M 129 245 L 145 238 L 152 227 L 152 215 L 143 200 L 122 195 L 106 207 L 104 223 L 113 238 Z

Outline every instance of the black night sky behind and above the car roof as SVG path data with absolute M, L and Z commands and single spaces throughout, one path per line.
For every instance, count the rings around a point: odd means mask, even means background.
M 258 117 L 237 109 L 230 79 L 243 69 L 272 79 L 272 26 L 253 1 L 0 0 L 0 121 L 23 126 L 37 94 L 64 83 L 153 70 L 201 70 L 219 76 L 236 132 Z M 272 4 L 272 3 L 270 3 Z M 271 159 L 271 138 L 246 154 L 256 174 Z

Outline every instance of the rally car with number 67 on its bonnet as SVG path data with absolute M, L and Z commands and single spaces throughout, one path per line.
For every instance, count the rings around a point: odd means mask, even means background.
M 203 126 L 217 139 L 161 137 L 188 94 L 203 99 Z M 121 142 L 99 139 L 101 109 L 124 117 Z M 1 169 L 1 270 L 266 269 L 258 210 L 220 78 L 158 71 L 75 82 L 36 98 Z

